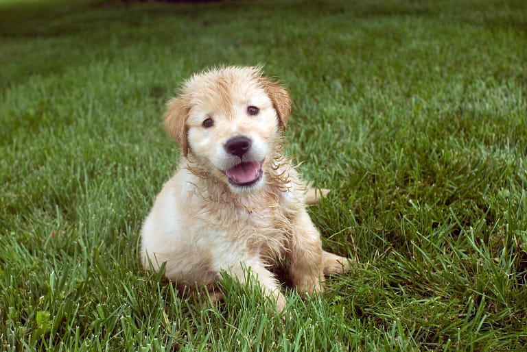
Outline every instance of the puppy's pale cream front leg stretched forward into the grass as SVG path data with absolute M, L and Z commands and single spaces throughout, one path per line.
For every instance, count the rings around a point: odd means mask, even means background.
M 235 276 L 241 284 L 249 284 L 249 288 L 253 289 L 249 281 L 250 272 L 253 275 L 257 284 L 259 284 L 262 292 L 266 297 L 272 299 L 273 303 L 277 305 L 278 312 L 281 312 L 285 307 L 285 298 L 280 292 L 280 286 L 274 275 L 267 270 L 264 263 L 257 258 L 248 258 L 237 264 L 231 264 L 229 266 L 229 273 Z

